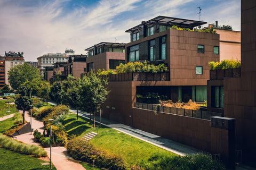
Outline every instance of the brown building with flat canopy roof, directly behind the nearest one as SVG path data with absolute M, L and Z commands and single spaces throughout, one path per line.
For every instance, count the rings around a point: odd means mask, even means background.
M 125 63 L 124 43 L 101 42 L 85 50 L 88 51 L 88 58 L 86 59 L 87 72 L 91 70 L 97 71 L 98 69 L 116 69 L 116 66 Z

